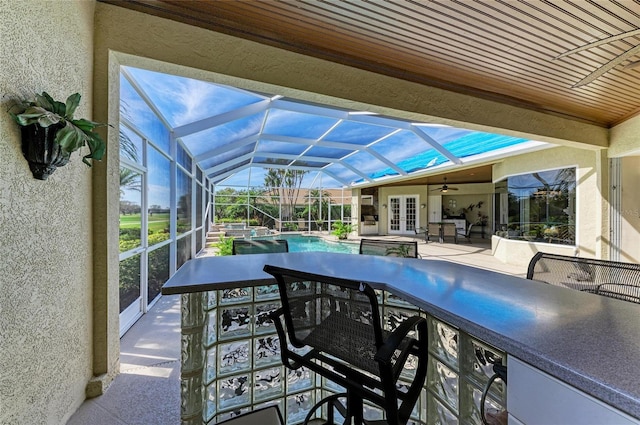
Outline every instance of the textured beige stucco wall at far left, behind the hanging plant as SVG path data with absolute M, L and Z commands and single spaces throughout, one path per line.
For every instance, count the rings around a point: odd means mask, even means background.
M 7 96 L 83 95 L 91 118 L 92 1 L 0 0 L 0 423 L 61 424 L 91 376 L 91 170 L 79 155 L 33 179 Z

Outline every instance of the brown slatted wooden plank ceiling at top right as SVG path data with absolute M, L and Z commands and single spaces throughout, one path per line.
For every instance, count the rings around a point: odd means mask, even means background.
M 640 0 L 103 1 L 606 127 L 640 112 Z

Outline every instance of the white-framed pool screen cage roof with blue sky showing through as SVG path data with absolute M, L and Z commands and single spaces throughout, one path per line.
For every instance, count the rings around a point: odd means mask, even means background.
M 262 187 L 273 168 L 306 171 L 303 188 L 373 186 L 546 145 L 139 68 L 121 69 L 123 102 L 133 98 L 128 90 L 137 92 L 135 97 L 144 100 L 145 108 L 182 142 L 218 188 Z M 131 102 L 130 112 L 138 113 Z

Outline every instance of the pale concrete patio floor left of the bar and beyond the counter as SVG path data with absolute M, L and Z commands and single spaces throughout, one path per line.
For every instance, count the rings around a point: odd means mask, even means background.
M 453 244 L 419 239 L 418 252 L 424 259 L 524 277 L 525 268 L 504 264 L 491 255 L 490 241 L 474 238 L 472 243 Z M 120 350 L 120 374 L 104 395 L 85 401 L 67 425 L 179 424 L 180 297 L 161 297 L 121 338 Z

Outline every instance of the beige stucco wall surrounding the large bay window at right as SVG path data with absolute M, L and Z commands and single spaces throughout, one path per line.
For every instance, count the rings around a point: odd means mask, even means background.
M 494 181 L 510 175 L 577 167 L 576 247 L 529 243 L 493 237 L 494 255 L 504 262 L 528 264 L 537 251 L 608 258 L 608 162 L 604 151 L 558 147 L 507 158 L 493 167 Z M 602 202 L 599 200 L 602 199 Z

